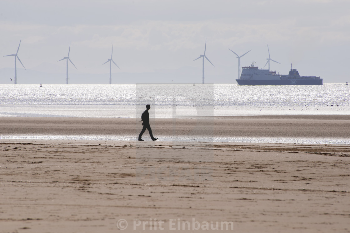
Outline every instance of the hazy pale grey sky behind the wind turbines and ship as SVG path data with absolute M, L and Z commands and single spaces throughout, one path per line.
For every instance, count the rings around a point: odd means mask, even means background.
M 302 76 L 323 83 L 350 82 L 348 0 L 1 0 L 0 84 L 64 84 L 68 55 L 70 83 L 237 83 L 241 66 Z M 267 68 L 267 66 L 265 67 Z

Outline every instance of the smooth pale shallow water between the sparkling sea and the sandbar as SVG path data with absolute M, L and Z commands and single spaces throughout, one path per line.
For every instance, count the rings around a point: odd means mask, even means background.
M 0 117 L 100 117 L 139 118 L 144 106 L 134 105 L 2 105 Z M 196 118 L 232 115 L 317 115 L 348 114 L 346 106 L 214 106 L 207 112 L 197 112 L 194 106 L 152 106 L 151 118 Z

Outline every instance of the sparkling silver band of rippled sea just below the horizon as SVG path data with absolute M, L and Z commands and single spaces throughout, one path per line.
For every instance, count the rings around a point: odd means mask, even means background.
M 0 106 L 216 106 L 350 110 L 350 86 L 238 86 L 236 84 L 0 85 Z

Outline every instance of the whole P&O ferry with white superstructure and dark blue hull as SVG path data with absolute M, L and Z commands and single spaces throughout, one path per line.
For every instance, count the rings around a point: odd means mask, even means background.
M 254 62 L 249 67 L 242 67 L 238 85 L 322 85 L 323 79 L 316 76 L 300 76 L 296 69 L 290 69 L 288 75 L 276 74 L 275 71 L 259 69 Z

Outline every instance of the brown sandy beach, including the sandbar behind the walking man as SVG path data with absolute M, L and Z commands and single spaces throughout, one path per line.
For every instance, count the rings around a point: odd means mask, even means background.
M 137 135 L 137 120 L 0 118 L 0 135 Z M 348 115 L 296 115 L 151 126 L 157 137 L 349 138 L 349 123 Z M 350 232 L 349 145 L 1 139 L 0 146 L 0 232 Z

